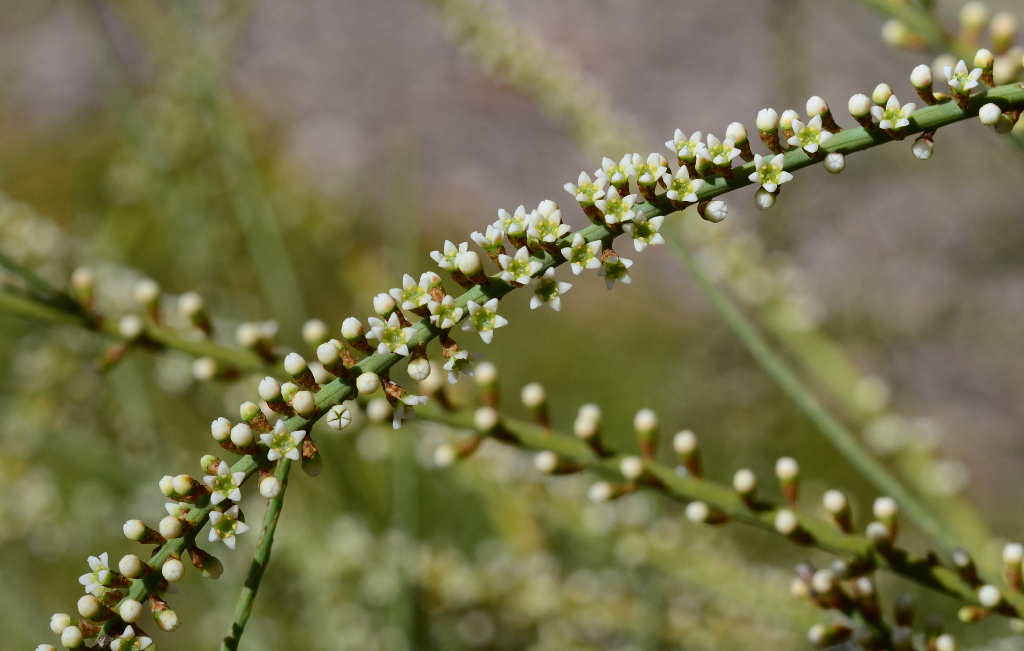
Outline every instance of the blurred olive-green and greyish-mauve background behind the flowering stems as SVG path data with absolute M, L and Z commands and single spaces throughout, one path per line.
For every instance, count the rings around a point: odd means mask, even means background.
M 890 47 L 887 17 L 849 0 L 2 7 L 0 249 L 58 287 L 89 265 L 113 316 L 140 311 L 141 277 L 168 305 L 197 291 L 218 341 L 275 319 L 281 350 L 307 358 L 307 318 L 337 337 L 500 208 L 551 199 L 585 225 L 562 185 L 602 156 L 666 154 L 676 128 L 753 133 L 759 108 L 803 113 L 812 94 L 854 126 L 850 95 L 887 82 L 909 101 L 910 70 L 941 53 Z M 950 27 L 959 10 L 937 7 Z M 712 311 L 673 255 L 685 247 L 979 562 L 997 564 L 1022 525 L 1022 172 L 1013 141 L 954 125 L 926 162 L 908 140 L 850 157 L 840 177 L 800 173 L 766 213 L 740 190 L 722 224 L 670 217 L 670 246 L 623 252 L 631 286 L 560 270 L 573 289 L 559 313 L 517 293 L 493 344 L 456 339 L 498 365 L 510 415 L 526 416 L 519 389 L 539 381 L 557 428 L 597 402 L 609 446 L 632 449 L 633 415 L 651 407 L 665 435 L 701 437 L 709 476 L 768 478 L 794 455 L 808 508 L 843 488 L 863 526 L 876 493 Z M 0 317 L 0 650 L 54 643 L 48 617 L 74 612 L 86 556 L 135 551 L 120 524 L 159 519 L 159 478 L 198 474 L 210 421 L 256 395 L 260 376 L 197 383 L 173 351 L 98 374 L 106 343 Z M 453 391 L 474 403 L 472 381 Z M 544 478 L 497 444 L 439 471 L 432 450 L 455 434 L 429 424 L 360 419 L 317 436 L 325 471 L 293 476 L 243 648 L 797 649 L 827 620 L 787 589 L 795 563 L 826 557 L 774 536 L 697 527 L 646 494 L 589 505 L 592 479 Z M 213 550 L 227 566 L 218 581 L 189 573 L 168 598 L 183 624 L 158 645 L 219 644 L 254 544 Z M 1005 621 L 955 624 L 955 603 L 911 584 L 882 592 L 918 596 L 969 647 L 1024 646 Z

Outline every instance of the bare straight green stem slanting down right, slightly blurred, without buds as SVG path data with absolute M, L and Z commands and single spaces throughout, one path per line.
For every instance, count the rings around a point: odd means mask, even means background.
M 736 339 L 757 359 L 765 373 L 775 381 L 782 391 L 790 396 L 804 415 L 814 423 L 821 433 L 837 449 L 882 492 L 892 496 L 900 505 L 910 520 L 932 539 L 936 540 L 945 551 L 957 547 L 956 540 L 949 534 L 943 523 L 935 518 L 928 508 L 918 497 L 907 490 L 903 484 L 893 477 L 882 464 L 864 450 L 860 441 L 850 430 L 844 427 L 821 403 L 811 394 L 781 357 L 776 355 L 757 332 L 754 324 L 743 315 L 742 311 L 723 293 L 708 276 L 707 272 L 693 259 L 693 256 L 676 242 L 672 242 L 676 255 L 682 261 L 693 279 L 700 287 L 715 311 L 729 326 Z

